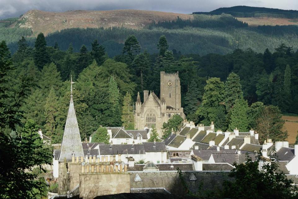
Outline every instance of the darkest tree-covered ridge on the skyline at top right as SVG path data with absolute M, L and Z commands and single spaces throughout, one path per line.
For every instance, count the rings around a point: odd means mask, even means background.
M 192 14 L 220 15 L 222 13 L 230 14 L 234 17 L 273 17 L 273 18 L 297 18 L 297 10 L 282 10 L 277 8 L 233 6 L 222 7 L 211 12 L 193 12 Z

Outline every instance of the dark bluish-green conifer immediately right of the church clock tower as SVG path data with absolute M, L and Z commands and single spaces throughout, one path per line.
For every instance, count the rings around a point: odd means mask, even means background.
M 189 114 L 195 113 L 199 107 L 199 90 L 195 81 L 192 80 L 192 82 L 189 84 L 184 100 L 184 113 L 187 116 Z

